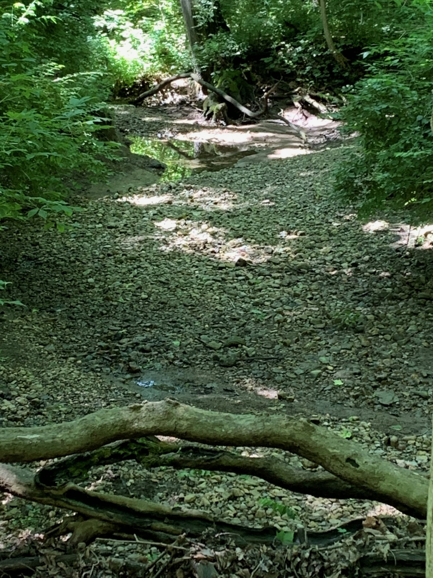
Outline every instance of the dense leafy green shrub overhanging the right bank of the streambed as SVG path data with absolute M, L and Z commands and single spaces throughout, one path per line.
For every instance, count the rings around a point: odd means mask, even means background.
M 337 191 L 361 218 L 404 209 L 407 220 L 418 224 L 433 212 L 433 11 L 427 0 L 409 7 L 413 18 L 406 33 L 364 53 L 368 76 L 348 95 L 341 114 L 345 130 L 359 134 L 359 147 L 336 179 Z

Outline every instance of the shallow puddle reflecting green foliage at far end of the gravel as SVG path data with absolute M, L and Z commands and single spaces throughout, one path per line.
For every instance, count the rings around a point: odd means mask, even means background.
M 167 166 L 161 181 L 177 181 L 194 172 L 219 171 L 257 152 L 247 147 L 223 146 L 199 140 L 150 139 L 141 136 L 131 136 L 130 140 L 132 153 L 147 155 Z

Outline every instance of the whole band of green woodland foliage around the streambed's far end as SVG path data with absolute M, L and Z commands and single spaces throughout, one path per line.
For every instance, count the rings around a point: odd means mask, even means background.
M 189 32 L 185 5 L 1 2 L 2 220 L 70 213 L 68 178 L 97 177 L 115 156 L 100 139 L 107 100 L 192 68 L 238 99 L 284 81 L 337 103 L 359 138 L 336 192 L 361 216 L 404 208 L 408 220 L 428 218 L 430 0 L 196 0 Z

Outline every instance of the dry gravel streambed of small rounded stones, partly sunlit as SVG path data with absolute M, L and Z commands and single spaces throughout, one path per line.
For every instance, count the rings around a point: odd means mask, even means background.
M 27 308 L 0 321 L 0 425 L 71 420 L 168 392 L 234 413 L 319 414 L 342 437 L 427 471 L 430 251 L 405 247 L 400 224 L 363 227 L 335 201 L 332 171 L 344 156 L 322 150 L 79 199 L 77 226 L 62 235 L 1 232 L 1 278 Z M 137 386 L 158 376 L 159 393 Z M 94 472 L 107 491 L 285 530 L 391 511 L 215 472 L 173 481 L 129 462 L 110 472 Z

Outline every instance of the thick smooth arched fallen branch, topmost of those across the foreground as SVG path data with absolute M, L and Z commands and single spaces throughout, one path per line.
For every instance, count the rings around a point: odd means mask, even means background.
M 326 428 L 304 419 L 209 412 L 171 399 L 103 409 L 63 424 L 0 429 L 0 461 L 46 460 L 146 435 L 219 446 L 277 447 L 322 465 L 350 485 L 369 490 L 381 502 L 419 517 L 426 514 L 428 480 Z M 9 491 L 14 481 L 10 470 L 0 467 L 0 489 Z

